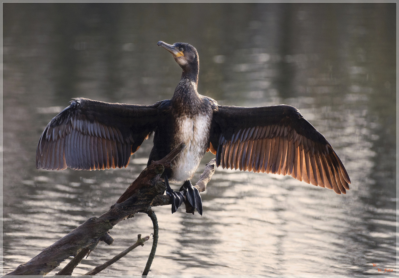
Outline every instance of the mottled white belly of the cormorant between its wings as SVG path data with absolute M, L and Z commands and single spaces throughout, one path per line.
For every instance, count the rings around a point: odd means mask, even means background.
M 186 148 L 172 162 L 172 182 L 191 179 L 196 172 L 201 158 L 206 152 L 211 127 L 211 115 L 198 114 L 181 116 L 176 119 L 174 146 L 184 142 Z

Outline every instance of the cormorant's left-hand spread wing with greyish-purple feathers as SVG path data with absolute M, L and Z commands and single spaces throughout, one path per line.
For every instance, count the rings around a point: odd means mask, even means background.
M 104 170 L 126 167 L 130 155 L 154 130 L 158 105 L 75 99 L 41 134 L 36 168 Z

